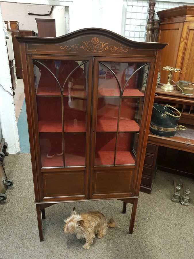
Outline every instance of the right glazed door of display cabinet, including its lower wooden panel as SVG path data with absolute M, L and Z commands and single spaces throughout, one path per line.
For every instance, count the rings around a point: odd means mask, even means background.
M 132 195 L 149 62 L 95 58 L 90 197 Z

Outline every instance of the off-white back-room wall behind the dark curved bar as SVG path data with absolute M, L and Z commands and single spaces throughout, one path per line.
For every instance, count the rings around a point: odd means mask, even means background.
M 50 19 L 51 16 L 29 15 L 28 12 L 34 14 L 48 14 L 51 10 L 50 5 L 27 5 L 20 3 L 1 3 L 3 20 L 18 21 L 20 30 L 37 31 L 37 23 L 35 18 Z M 10 28 L 10 24 L 9 24 Z

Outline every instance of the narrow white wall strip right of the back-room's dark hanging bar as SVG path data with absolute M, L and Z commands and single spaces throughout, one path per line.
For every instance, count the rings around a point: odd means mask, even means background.
M 55 19 L 56 37 L 67 33 L 64 6 L 55 6 L 50 18 Z

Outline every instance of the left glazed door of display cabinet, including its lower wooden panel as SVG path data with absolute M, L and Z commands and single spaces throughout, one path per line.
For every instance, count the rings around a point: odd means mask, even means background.
M 33 56 L 29 62 L 41 197 L 87 199 L 92 59 Z

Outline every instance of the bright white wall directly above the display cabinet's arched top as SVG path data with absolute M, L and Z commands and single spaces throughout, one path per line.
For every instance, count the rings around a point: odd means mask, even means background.
M 74 0 L 70 6 L 70 32 L 104 28 L 121 33 L 123 0 Z

